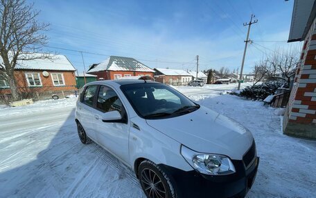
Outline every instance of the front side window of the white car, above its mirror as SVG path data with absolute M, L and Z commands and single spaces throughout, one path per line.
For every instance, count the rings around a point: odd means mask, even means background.
M 117 110 L 122 114 L 123 104 L 112 88 L 100 86 L 96 108 L 102 112 Z

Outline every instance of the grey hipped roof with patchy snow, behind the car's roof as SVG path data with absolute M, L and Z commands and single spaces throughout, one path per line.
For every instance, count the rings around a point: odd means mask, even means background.
M 129 57 L 116 57 L 110 56 L 105 61 L 93 64 L 90 66 L 87 73 L 98 72 L 98 71 L 134 71 L 134 72 L 155 72 L 154 70 L 148 68 L 148 66 L 137 61 L 136 59 Z

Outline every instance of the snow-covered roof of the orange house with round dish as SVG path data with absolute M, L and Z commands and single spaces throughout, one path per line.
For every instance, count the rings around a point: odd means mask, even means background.
M 18 60 L 15 69 L 20 70 L 65 70 L 75 71 L 71 62 L 64 55 L 49 55 L 49 59 L 32 59 L 36 57 L 42 57 L 44 54 L 32 53 L 23 54 L 27 59 L 30 60 Z M 0 57 L 1 64 L 3 60 Z

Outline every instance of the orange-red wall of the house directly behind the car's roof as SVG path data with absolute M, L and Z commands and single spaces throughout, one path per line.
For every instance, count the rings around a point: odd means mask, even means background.
M 89 72 L 91 75 L 96 75 L 96 79 L 104 79 L 104 80 L 113 80 L 114 75 L 121 75 L 121 77 L 124 77 L 124 75 L 131 75 L 133 76 L 139 76 L 139 75 L 148 75 L 150 77 L 154 77 L 153 72 L 133 72 L 133 71 L 99 71 L 99 72 Z

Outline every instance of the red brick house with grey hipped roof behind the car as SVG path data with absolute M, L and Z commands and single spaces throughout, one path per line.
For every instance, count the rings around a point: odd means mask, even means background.
M 111 56 L 102 63 L 93 64 L 87 71 L 90 75 L 96 75 L 98 80 L 146 75 L 154 77 L 154 72 L 154 70 L 136 59 L 116 56 Z

